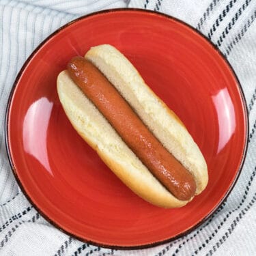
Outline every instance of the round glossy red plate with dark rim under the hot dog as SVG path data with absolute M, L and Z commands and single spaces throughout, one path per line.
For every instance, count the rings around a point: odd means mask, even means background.
M 56 92 L 74 55 L 113 44 L 180 116 L 208 163 L 205 191 L 165 210 L 134 195 L 74 131 Z M 33 52 L 14 84 L 7 145 L 23 191 L 48 221 L 93 244 L 153 246 L 205 221 L 236 182 L 247 142 L 247 115 L 227 60 L 188 25 L 142 10 L 111 10 L 62 27 Z

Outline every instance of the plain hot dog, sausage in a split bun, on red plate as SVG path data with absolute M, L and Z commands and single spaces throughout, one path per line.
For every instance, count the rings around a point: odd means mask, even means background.
M 122 53 L 96 46 L 67 69 L 57 79 L 64 111 L 134 193 L 165 208 L 201 193 L 208 171 L 199 147 Z

